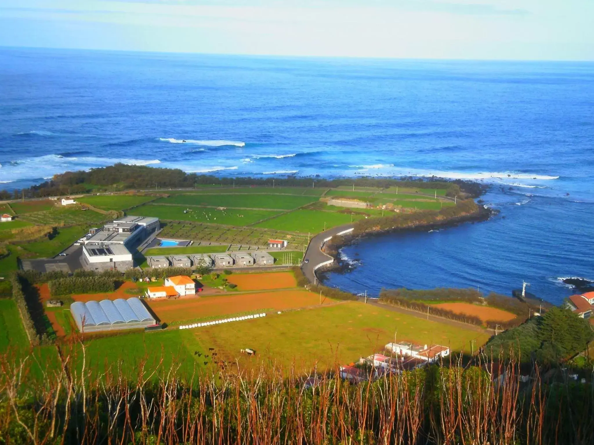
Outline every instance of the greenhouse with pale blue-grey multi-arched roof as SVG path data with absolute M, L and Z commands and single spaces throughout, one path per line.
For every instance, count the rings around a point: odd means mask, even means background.
M 157 324 L 142 301 L 136 297 L 87 303 L 75 301 L 70 305 L 70 311 L 81 332 L 138 329 Z

